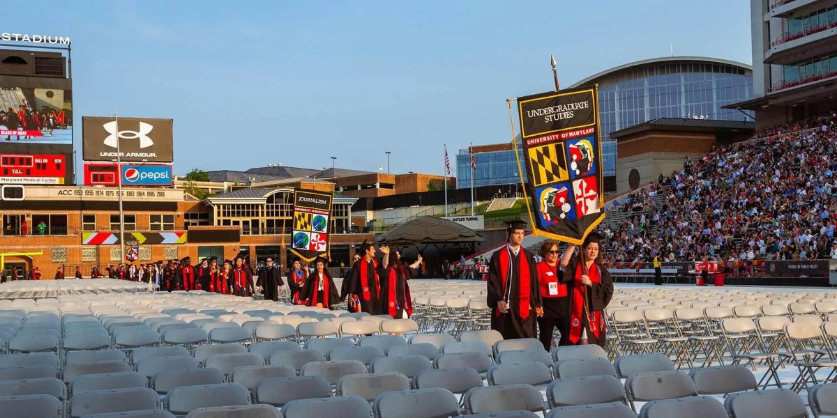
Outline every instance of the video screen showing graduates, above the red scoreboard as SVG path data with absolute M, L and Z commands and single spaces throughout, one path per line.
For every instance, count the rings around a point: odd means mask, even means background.
M 73 145 L 69 90 L 0 86 L 0 147 Z

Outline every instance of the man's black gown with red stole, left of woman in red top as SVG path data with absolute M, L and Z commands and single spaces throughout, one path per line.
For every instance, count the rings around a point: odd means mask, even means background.
M 511 256 L 506 259 L 505 263 L 508 264 L 505 265 L 511 264 L 511 268 L 506 267 L 506 271 L 501 268 L 501 264 L 504 264 L 504 256 Z M 526 266 L 522 268 L 522 272 L 521 264 Z M 508 277 L 510 270 L 511 278 Z M 524 280 L 528 279 L 528 292 L 521 291 L 521 273 Z M 515 256 L 508 245 L 494 252 L 488 266 L 487 287 L 486 302 L 492 309 L 491 329 L 499 331 L 503 339 L 536 338 L 535 308 L 541 308 L 542 303 L 541 290 L 537 283 L 535 258 L 532 257 L 531 252 L 521 247 Z M 524 284 L 522 288 L 525 287 Z M 506 314 L 502 314 L 497 308 L 497 303 L 506 300 L 506 295 L 508 295 L 509 309 Z

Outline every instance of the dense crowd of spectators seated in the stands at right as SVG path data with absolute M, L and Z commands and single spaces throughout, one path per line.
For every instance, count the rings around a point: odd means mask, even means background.
M 682 170 L 608 209 L 628 213 L 600 227 L 608 261 L 837 258 L 835 147 L 832 112 L 686 157 Z

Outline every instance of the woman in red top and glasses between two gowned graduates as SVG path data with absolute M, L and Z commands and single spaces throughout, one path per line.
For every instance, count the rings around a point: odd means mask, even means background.
M 543 298 L 543 316 L 537 319 L 538 329 L 540 329 L 538 339 L 547 351 L 552 349 L 552 332 L 556 328 L 561 333 L 558 345 L 569 344 L 567 340 L 567 285 L 561 283 L 559 278 L 563 274 L 563 268 L 567 267 L 574 249 L 575 246 L 572 245 L 567 248 L 567 252 L 564 252 L 559 263 L 558 243 L 544 241 L 539 251 L 543 261 L 535 265 L 537 283 L 541 286 L 541 298 Z

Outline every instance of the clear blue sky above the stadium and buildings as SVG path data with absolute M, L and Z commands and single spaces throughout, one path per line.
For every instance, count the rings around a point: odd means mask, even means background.
M 0 32 L 69 36 L 74 114 L 172 118 L 175 173 L 441 174 L 511 138 L 506 98 L 639 59 L 750 64 L 744 0 L 9 2 Z M 75 132 L 80 150 L 81 133 Z

